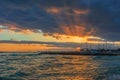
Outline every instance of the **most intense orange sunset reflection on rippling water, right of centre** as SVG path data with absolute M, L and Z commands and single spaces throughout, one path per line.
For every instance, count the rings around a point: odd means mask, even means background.
M 64 64 L 58 71 L 61 74 L 67 74 L 59 76 L 60 79 L 65 80 L 93 80 L 97 77 L 96 69 L 99 66 L 89 56 L 66 56 L 56 57 L 57 63 Z

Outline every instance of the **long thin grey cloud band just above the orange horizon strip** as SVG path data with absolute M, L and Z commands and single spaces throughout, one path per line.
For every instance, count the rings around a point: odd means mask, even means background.
M 76 48 L 80 47 L 80 44 L 74 42 L 41 42 L 41 41 L 16 41 L 16 40 L 0 40 L 0 43 L 6 44 L 41 44 L 41 45 L 48 45 L 49 47 L 56 46 L 56 47 L 71 47 Z

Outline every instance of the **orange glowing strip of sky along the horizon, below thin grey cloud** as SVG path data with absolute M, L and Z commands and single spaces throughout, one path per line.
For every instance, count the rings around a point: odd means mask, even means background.
M 70 47 L 58 47 L 48 44 L 15 44 L 15 43 L 0 43 L 0 51 L 5 52 L 31 52 L 31 51 L 61 51 L 74 50 Z

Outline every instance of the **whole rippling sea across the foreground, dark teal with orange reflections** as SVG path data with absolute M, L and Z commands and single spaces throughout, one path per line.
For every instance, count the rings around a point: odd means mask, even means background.
M 0 53 L 0 80 L 120 80 L 120 56 Z

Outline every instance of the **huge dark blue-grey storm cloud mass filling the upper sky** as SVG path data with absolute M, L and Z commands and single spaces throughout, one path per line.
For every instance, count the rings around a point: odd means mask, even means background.
M 64 10 L 58 16 L 59 13 L 47 12 L 50 8 L 56 8 L 54 12 Z M 89 12 L 84 15 L 79 10 Z M 75 12 L 80 18 L 77 23 Z M 65 34 L 61 24 L 84 25 L 86 31 L 95 28 L 92 35 L 108 40 L 120 40 L 119 13 L 120 0 L 0 0 L 0 24 L 16 24 L 20 28 L 60 34 Z

